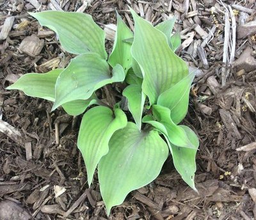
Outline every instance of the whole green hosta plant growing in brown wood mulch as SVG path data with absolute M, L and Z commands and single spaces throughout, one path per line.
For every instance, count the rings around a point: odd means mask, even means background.
M 77 146 L 89 186 L 95 169 L 98 171 L 108 215 L 127 194 L 159 175 L 169 152 L 183 180 L 196 190 L 198 138 L 189 127 L 179 125 L 188 111 L 194 74 L 174 52 L 180 45 L 179 34 L 172 35 L 175 20 L 152 26 L 132 9 L 131 13 L 134 33 L 117 14 L 115 43 L 109 56 L 104 31 L 90 15 L 30 13 L 42 26 L 55 31 L 63 49 L 76 56 L 66 68 L 25 74 L 8 87 L 54 102 L 52 111 L 62 106 L 73 116 L 85 112 Z M 109 107 L 95 93 L 116 83 L 126 86 L 121 92 L 129 111 L 122 109 L 120 99 Z

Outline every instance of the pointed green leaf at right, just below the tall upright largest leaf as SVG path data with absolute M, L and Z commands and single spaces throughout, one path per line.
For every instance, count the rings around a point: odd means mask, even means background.
M 168 107 L 175 124 L 180 123 L 188 112 L 189 91 L 195 73 L 191 73 L 179 83 L 164 91 L 157 99 L 157 105 Z

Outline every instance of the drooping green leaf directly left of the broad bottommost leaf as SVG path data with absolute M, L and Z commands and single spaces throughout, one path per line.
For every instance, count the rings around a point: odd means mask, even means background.
M 109 139 L 116 130 L 126 125 L 127 118 L 121 109 L 115 109 L 115 114 L 113 114 L 108 107 L 97 106 L 84 114 L 77 146 L 83 155 L 89 186 L 92 184 L 97 164 L 108 153 Z

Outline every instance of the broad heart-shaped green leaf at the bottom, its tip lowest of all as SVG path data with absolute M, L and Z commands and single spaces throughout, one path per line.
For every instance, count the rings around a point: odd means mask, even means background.
M 118 130 L 109 141 L 109 153 L 99 162 L 100 193 L 107 214 L 128 193 L 143 187 L 160 173 L 168 146 L 156 130 L 139 131 L 134 123 Z

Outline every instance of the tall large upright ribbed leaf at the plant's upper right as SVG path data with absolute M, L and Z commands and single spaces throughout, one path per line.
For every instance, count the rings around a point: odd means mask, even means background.
M 150 104 L 188 75 L 186 63 L 169 47 L 166 36 L 131 10 L 135 23 L 132 57 L 143 73 L 142 90 Z

